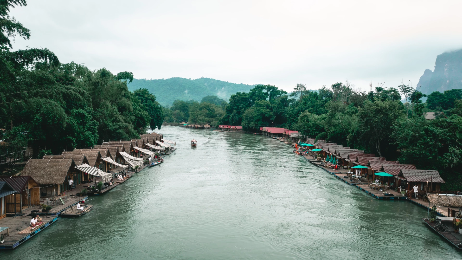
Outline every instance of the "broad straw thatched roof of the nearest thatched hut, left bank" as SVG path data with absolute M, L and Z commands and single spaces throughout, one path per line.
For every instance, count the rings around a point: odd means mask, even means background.
M 61 184 L 74 166 L 74 160 L 70 158 L 30 159 L 21 174 L 30 175 L 39 185 Z

